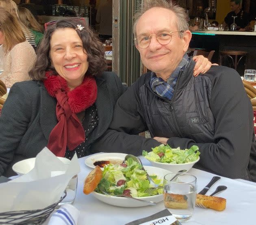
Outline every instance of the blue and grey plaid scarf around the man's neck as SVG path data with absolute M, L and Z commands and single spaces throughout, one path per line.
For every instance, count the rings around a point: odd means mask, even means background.
M 157 77 L 154 72 L 151 72 L 150 87 L 152 91 L 161 97 L 165 97 L 168 100 L 171 100 L 172 96 L 174 95 L 179 72 L 187 67 L 189 61 L 189 56 L 184 54 L 178 67 L 173 71 L 171 76 L 169 76 L 167 82 L 165 82 L 162 78 Z

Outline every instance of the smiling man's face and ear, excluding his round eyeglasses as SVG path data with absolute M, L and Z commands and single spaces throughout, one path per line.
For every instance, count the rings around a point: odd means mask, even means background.
M 176 15 L 169 9 L 158 7 L 149 9 L 138 20 L 137 37 L 139 35 L 150 36 L 163 30 L 178 31 L 176 21 Z M 167 80 L 187 51 L 191 39 L 191 32 L 188 32 L 184 32 L 183 38 L 180 38 L 178 32 L 172 33 L 171 41 L 167 45 L 160 44 L 156 35 L 151 36 L 148 48 L 142 49 L 136 45 L 145 67 L 155 72 L 158 77 Z

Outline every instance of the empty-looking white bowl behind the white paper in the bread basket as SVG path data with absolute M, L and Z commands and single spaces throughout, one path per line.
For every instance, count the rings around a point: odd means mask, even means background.
M 58 157 L 64 164 L 69 164 L 70 160 L 63 157 Z M 13 171 L 18 175 L 24 175 L 35 167 L 35 158 L 24 159 L 20 162 L 16 162 L 13 165 Z

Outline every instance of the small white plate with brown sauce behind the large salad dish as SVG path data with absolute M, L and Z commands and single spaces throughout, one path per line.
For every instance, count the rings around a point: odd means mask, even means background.
M 93 165 L 96 161 L 105 161 L 105 160 L 120 160 L 120 163 L 124 161 L 124 157 L 127 154 L 124 153 L 99 153 L 99 154 L 93 154 L 85 159 L 85 165 L 87 167 L 95 168 Z

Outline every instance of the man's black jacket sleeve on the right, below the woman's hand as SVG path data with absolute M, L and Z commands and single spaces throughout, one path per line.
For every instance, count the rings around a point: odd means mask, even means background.
M 239 74 L 227 67 L 218 67 L 221 76 L 212 80 L 210 108 L 215 117 L 214 143 L 195 143 L 188 138 L 172 137 L 171 147 L 200 149 L 202 168 L 226 177 L 241 178 L 246 174 L 253 136 L 252 105 Z

